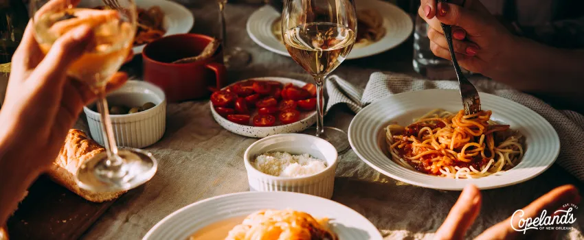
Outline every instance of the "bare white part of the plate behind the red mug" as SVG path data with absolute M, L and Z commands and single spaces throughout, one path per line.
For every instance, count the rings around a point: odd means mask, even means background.
M 164 12 L 164 22 L 162 27 L 166 29 L 164 36 L 173 34 L 186 34 L 194 25 L 194 16 L 192 12 L 179 3 L 167 0 L 136 0 L 138 8 L 148 9 L 155 5 L 159 6 Z M 132 48 L 134 55 L 142 53 L 146 45 L 139 45 Z

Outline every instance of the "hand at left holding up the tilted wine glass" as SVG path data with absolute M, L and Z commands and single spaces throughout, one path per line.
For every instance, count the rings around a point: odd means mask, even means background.
M 38 47 L 33 31 L 29 24 L 14 53 L 0 110 L 3 158 L 17 162 L 14 167 L 26 174 L 38 174 L 52 163 L 83 106 L 97 98 L 89 86 L 66 75 L 90 44 L 91 28 L 82 25 L 67 32 L 47 56 Z M 125 73 L 116 73 L 106 88 L 111 91 L 126 80 Z

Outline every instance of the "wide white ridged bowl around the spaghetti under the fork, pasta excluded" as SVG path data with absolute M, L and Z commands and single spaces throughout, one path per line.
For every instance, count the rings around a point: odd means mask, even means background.
M 480 93 L 480 99 L 483 110 L 493 111 L 492 120 L 510 125 L 525 138 L 521 163 L 503 173 L 473 179 L 443 178 L 406 169 L 389 157 L 385 126 L 389 123 L 409 125 L 413 119 L 436 108 L 457 112 L 462 109 L 458 90 L 431 89 L 379 99 L 359 111 L 351 121 L 349 143 L 359 158 L 385 176 L 431 189 L 460 191 L 467 184 L 475 184 L 479 189 L 506 187 L 535 178 L 554 163 L 560 151 L 560 141 L 546 119 L 503 97 Z

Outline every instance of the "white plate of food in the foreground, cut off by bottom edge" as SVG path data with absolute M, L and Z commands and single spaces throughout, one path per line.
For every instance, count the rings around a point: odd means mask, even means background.
M 381 240 L 356 211 L 302 193 L 244 192 L 190 204 L 159 221 L 143 240 Z

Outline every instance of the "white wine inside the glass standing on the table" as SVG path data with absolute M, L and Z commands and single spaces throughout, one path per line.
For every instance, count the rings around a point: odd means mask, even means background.
M 284 45 L 292 58 L 313 76 L 339 67 L 355 43 L 352 29 L 335 23 L 307 23 L 284 32 Z

